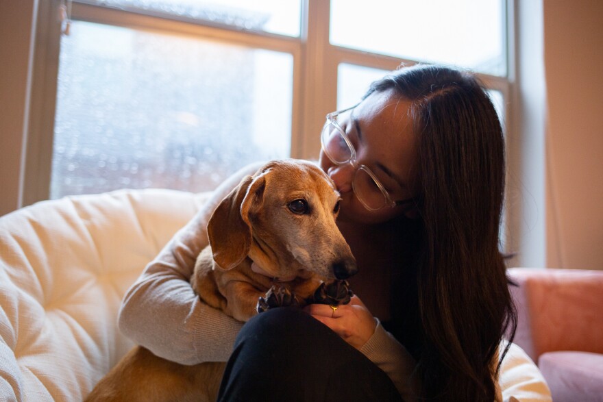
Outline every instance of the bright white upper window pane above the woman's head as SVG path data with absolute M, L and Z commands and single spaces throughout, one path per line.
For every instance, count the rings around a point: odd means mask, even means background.
M 504 0 L 331 0 L 334 45 L 506 75 Z

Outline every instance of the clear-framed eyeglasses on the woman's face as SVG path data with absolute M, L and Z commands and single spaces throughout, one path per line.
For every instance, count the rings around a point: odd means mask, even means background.
M 389 192 L 387 192 L 371 169 L 363 164 L 358 164 L 356 161 L 356 149 L 343 128 L 341 128 L 341 125 L 337 123 L 337 116 L 353 110 L 356 106 L 354 105 L 352 108 L 327 114 L 327 121 L 321 132 L 323 152 L 336 165 L 341 166 L 349 163 L 354 166 L 356 171 L 352 179 L 352 190 L 354 190 L 358 201 L 367 210 L 377 211 L 385 207 L 395 208 L 398 205 L 415 201 L 413 198 L 393 201 Z

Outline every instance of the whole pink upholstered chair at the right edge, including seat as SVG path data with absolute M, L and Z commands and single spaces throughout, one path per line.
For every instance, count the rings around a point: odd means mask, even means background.
M 603 271 L 510 268 L 515 343 L 537 362 L 553 401 L 603 401 Z

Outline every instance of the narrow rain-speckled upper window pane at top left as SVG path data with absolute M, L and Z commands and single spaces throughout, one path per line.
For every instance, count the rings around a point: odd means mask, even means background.
M 122 10 L 169 14 L 251 31 L 299 36 L 301 0 L 96 0 Z

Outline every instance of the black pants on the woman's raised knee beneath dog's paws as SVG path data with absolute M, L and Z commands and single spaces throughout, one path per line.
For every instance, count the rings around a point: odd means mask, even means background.
M 218 401 L 401 401 L 391 379 L 360 351 L 293 307 L 243 326 Z

